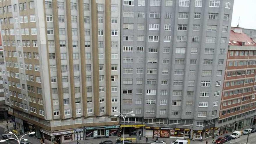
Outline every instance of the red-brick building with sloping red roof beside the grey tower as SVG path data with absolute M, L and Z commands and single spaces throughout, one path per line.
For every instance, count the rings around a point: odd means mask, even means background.
M 243 33 L 243 28 L 232 27 L 220 116 L 216 121 L 220 134 L 256 123 L 255 58 L 256 43 Z

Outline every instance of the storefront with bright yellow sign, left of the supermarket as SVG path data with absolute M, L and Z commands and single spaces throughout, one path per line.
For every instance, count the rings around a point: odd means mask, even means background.
M 121 125 L 121 129 L 120 132 L 122 132 L 122 127 L 124 127 L 124 125 Z M 141 134 L 143 135 L 143 127 L 145 127 L 145 125 L 125 125 L 125 134 L 129 134 L 129 136 L 137 136 L 138 132 L 141 131 Z

